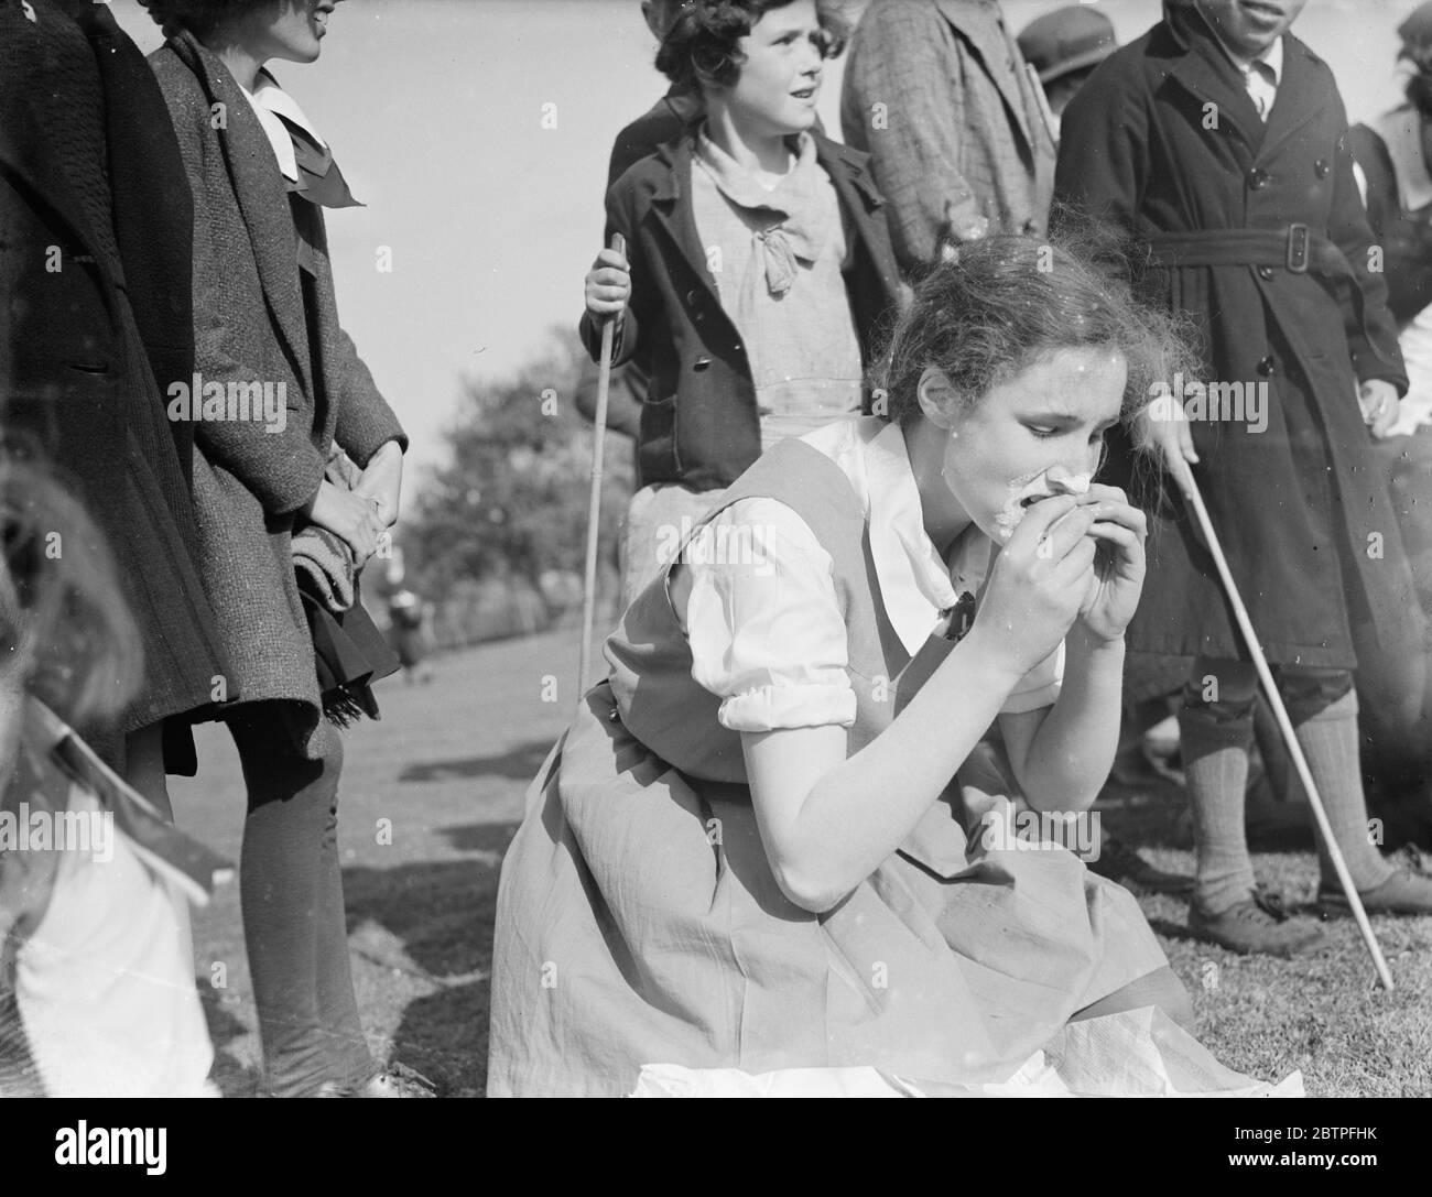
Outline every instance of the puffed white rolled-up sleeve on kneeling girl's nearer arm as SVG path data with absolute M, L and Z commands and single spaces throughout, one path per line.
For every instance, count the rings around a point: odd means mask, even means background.
M 783 503 L 732 504 L 693 537 L 686 607 L 692 677 L 733 732 L 849 727 L 845 619 L 831 554 Z

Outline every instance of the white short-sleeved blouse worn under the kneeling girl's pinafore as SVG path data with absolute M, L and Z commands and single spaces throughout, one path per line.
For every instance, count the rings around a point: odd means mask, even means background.
M 919 491 L 899 428 L 879 417 L 838 420 L 802 440 L 851 480 L 869 517 L 881 597 L 914 656 L 961 591 L 978 593 L 994 546 L 974 525 L 945 566 L 925 533 Z M 846 629 L 831 554 L 790 507 L 733 503 L 687 546 L 692 677 L 723 699 L 733 732 L 851 726 Z M 1058 697 L 1064 646 L 1024 676 L 1002 710 L 1038 710 Z

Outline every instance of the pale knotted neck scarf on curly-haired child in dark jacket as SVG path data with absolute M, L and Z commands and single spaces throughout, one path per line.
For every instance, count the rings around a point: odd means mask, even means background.
M 717 146 L 705 125 L 696 135 L 696 162 L 717 190 L 759 225 L 752 236 L 766 268 L 766 289 L 778 298 L 785 295 L 796 281 L 796 261 L 819 259 L 831 235 L 829 218 L 819 203 L 825 179 L 816 162 L 815 137 L 800 135 L 795 166 L 772 190 Z

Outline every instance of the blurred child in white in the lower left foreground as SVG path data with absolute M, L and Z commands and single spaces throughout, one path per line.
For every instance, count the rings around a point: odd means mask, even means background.
M 39 700 L 105 726 L 142 677 L 109 554 L 50 556 L 53 534 L 97 541 L 64 485 L 0 458 L 0 1095 L 213 1095 L 185 899 L 26 723 Z

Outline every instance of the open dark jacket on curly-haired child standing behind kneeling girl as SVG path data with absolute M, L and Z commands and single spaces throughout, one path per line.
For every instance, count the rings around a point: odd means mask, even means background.
M 859 150 L 812 132 L 845 222 L 845 289 L 865 365 L 899 306 L 899 273 L 885 226 L 885 200 Z M 652 371 L 637 461 L 643 484 L 729 487 L 760 455 L 756 385 L 740 334 L 726 315 L 692 209 L 692 137 L 670 142 L 607 192 L 607 236 L 620 232 L 632 265 L 632 302 L 616 362 Z M 593 359 L 601 331 L 583 314 L 579 331 Z

